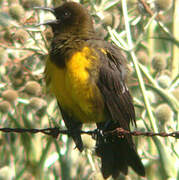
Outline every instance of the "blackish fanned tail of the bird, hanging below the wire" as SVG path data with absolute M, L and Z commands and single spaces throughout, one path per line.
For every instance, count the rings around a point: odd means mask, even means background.
M 112 175 L 115 179 L 120 173 L 127 175 L 128 167 L 140 176 L 145 176 L 145 169 L 134 147 L 129 145 L 125 137 L 112 139 L 98 138 L 96 154 L 101 158 L 101 171 L 104 178 Z

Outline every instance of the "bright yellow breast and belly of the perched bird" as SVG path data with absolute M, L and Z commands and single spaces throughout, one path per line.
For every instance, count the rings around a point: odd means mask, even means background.
M 46 63 L 46 81 L 51 92 L 69 115 L 84 123 L 103 121 L 103 99 L 90 75 L 97 61 L 90 49 L 84 47 L 66 61 L 65 68 L 50 59 Z

